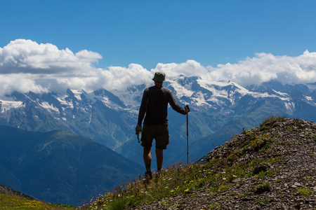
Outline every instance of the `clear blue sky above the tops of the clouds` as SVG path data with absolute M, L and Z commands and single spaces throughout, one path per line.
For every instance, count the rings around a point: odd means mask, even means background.
M 17 38 L 91 50 L 98 66 L 316 51 L 316 1 L 0 1 L 0 47 Z

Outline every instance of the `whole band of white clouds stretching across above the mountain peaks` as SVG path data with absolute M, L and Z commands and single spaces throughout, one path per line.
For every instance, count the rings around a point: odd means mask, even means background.
M 157 64 L 147 70 L 139 64 L 128 67 L 96 68 L 98 52 L 60 50 L 51 43 L 17 39 L 0 48 L 0 95 L 19 92 L 47 92 L 83 89 L 124 90 L 132 85 L 152 85 L 154 72 L 163 71 L 172 80 L 183 74 L 206 80 L 232 80 L 239 85 L 259 85 L 277 79 L 282 83 L 315 83 L 316 52 L 306 50 L 297 57 L 257 53 L 236 64 L 202 66 L 195 60 L 180 64 Z

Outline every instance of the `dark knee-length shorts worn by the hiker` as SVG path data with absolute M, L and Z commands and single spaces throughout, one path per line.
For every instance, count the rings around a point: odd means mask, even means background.
M 144 125 L 141 146 L 151 147 L 152 141 L 156 140 L 156 148 L 165 150 L 169 144 L 169 128 L 168 125 Z

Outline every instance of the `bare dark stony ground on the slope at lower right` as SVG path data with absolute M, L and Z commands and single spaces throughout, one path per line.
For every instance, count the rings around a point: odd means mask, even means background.
M 216 194 L 210 193 L 211 186 L 206 184 L 186 195 L 174 195 L 135 209 L 316 209 L 316 123 L 296 119 L 266 122 L 218 146 L 207 160 L 227 158 L 231 151 L 242 150 L 251 132 L 272 135 L 272 146 L 261 151 L 244 150 L 235 162 L 275 158 L 277 161 L 267 166 L 274 172 L 271 176 L 239 177 L 229 183 L 228 190 Z M 269 183 L 269 188 L 262 183 Z

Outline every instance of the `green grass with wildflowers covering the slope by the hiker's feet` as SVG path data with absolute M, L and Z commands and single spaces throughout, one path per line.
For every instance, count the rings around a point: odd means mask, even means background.
M 139 179 L 133 183 L 126 183 L 126 185 L 117 186 L 112 193 L 107 193 L 100 197 L 95 202 L 88 204 L 86 209 L 129 209 L 131 207 L 141 207 L 143 204 L 151 204 L 157 200 L 159 208 L 167 206 L 169 208 L 176 208 L 181 205 L 174 204 L 171 197 L 188 197 L 194 198 L 199 196 L 197 193 L 200 189 L 206 189 L 206 194 L 212 198 L 226 195 L 229 189 L 233 188 L 240 180 L 254 180 L 257 184 L 249 186 L 246 189 L 247 193 L 257 195 L 271 190 L 274 183 L 264 182 L 265 177 L 279 176 L 282 171 L 277 168 L 270 167 L 271 165 L 279 164 L 284 161 L 284 157 L 279 153 L 273 154 L 272 148 L 279 148 L 283 142 L 275 140 L 277 134 L 262 134 L 265 130 L 269 130 L 268 125 L 274 124 L 277 121 L 285 120 L 282 117 L 268 118 L 258 128 L 258 132 L 243 132 L 246 140 L 241 141 L 239 146 L 234 151 L 228 151 L 225 158 L 214 158 L 205 164 L 197 165 L 183 165 L 178 163 L 169 167 L 162 172 L 160 176 L 154 176 L 150 181 Z M 276 135 L 276 136 L 274 136 Z M 316 134 L 310 134 L 312 141 L 316 141 Z M 244 158 L 247 155 L 268 154 L 261 158 Z M 310 155 L 310 158 L 313 158 Z M 244 161 L 237 161 L 242 160 Z M 314 174 L 315 175 L 315 174 Z M 310 178 L 310 176 L 306 176 Z M 305 178 L 306 178 L 305 177 Z M 277 179 L 275 183 L 280 180 Z M 242 183 L 243 181 L 239 181 Z M 207 187 L 207 188 L 205 188 Z M 277 192 L 279 193 L 279 192 Z M 287 196 L 293 197 L 310 197 L 315 196 L 315 190 L 308 188 L 298 188 L 293 194 Z M 232 195 L 230 195 L 232 194 Z M 242 200 L 246 197 L 246 193 L 230 193 L 228 196 L 236 200 Z M 284 194 L 279 193 L 280 199 Z M 166 198 L 164 200 L 164 198 Z M 271 200 L 256 200 L 258 204 L 268 204 Z M 184 201 L 185 202 L 185 201 Z M 176 206 L 174 206 L 176 205 Z M 220 204 L 214 202 L 209 205 L 207 209 L 219 208 Z M 292 206 L 293 207 L 293 206 Z M 145 209 L 147 206 L 144 207 Z M 150 207 L 149 207 L 150 208 Z

